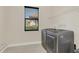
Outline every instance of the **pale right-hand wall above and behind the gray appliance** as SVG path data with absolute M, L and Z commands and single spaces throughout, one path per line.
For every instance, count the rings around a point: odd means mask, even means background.
M 79 48 L 79 7 L 52 7 L 51 27 L 74 31 L 74 39 Z

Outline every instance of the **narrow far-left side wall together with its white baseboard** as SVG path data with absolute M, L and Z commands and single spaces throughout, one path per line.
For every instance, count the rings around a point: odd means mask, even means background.
M 0 52 L 7 46 L 5 40 L 5 8 L 0 6 Z

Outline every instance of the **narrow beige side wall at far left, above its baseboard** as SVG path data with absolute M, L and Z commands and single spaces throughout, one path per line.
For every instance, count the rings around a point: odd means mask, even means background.
M 5 40 L 5 8 L 0 6 L 0 41 L 6 42 Z

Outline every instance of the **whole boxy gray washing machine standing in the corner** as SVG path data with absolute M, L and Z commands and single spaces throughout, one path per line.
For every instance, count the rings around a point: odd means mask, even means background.
M 63 29 L 43 29 L 42 46 L 48 53 L 73 53 L 74 32 Z

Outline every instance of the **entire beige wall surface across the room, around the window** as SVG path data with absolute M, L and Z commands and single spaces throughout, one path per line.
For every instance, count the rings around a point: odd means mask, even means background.
M 79 48 L 79 7 L 39 6 L 39 31 L 24 31 L 24 7 L 0 7 L 0 38 L 9 45 L 41 41 L 41 29 L 56 27 L 73 30 Z M 3 15 L 3 16 L 2 16 Z M 3 39 L 2 39 L 3 38 Z

